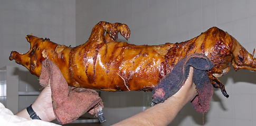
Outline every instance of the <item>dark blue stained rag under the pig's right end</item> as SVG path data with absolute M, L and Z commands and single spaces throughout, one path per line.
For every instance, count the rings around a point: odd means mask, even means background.
M 192 105 L 197 112 L 206 113 L 210 109 L 210 100 L 213 95 L 213 86 L 208 78 L 207 70 L 210 70 L 213 64 L 202 54 L 191 54 L 181 59 L 172 72 L 162 78 L 154 88 L 151 104 L 164 102 L 173 96 L 184 85 L 191 66 L 194 67 L 193 82 L 198 93 Z

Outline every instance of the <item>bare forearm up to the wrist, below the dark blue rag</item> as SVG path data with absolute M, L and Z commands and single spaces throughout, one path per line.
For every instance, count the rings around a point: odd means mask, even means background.
M 168 125 L 186 103 L 170 97 L 164 103 L 158 103 L 114 125 Z

